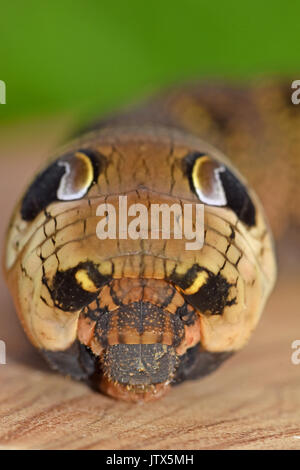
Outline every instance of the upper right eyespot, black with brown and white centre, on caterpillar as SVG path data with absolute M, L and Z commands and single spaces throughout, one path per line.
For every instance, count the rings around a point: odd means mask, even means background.
M 201 153 L 185 158 L 191 190 L 210 206 L 230 208 L 249 227 L 255 225 L 255 207 L 244 184 L 229 168 Z

